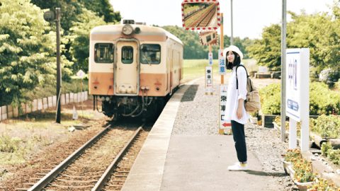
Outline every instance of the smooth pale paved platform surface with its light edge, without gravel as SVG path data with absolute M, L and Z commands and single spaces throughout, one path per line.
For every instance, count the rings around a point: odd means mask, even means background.
M 172 133 L 181 98 L 195 83 L 182 86 L 166 104 L 122 190 L 275 190 L 250 151 L 249 170 L 227 170 L 237 162 L 231 135 Z M 205 110 L 204 105 L 200 107 L 196 109 Z

